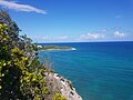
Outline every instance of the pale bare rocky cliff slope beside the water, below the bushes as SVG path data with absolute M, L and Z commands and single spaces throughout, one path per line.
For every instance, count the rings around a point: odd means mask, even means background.
M 72 87 L 71 81 L 59 76 L 58 73 L 47 73 L 48 79 L 52 81 L 53 89 L 59 89 L 61 94 L 64 96 L 68 100 L 82 100 L 79 93 L 75 91 L 75 88 Z

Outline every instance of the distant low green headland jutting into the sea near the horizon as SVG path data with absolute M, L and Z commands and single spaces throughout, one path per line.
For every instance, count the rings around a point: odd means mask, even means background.
M 59 46 L 42 46 L 39 50 L 72 50 L 72 47 L 59 47 Z

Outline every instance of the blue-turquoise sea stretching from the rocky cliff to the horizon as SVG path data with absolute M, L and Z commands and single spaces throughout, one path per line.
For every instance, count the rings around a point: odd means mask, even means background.
M 83 100 L 133 100 L 133 42 L 58 43 L 75 51 L 40 51 L 73 82 Z

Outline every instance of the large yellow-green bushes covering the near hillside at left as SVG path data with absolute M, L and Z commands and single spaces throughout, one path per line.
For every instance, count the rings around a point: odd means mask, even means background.
M 19 31 L 10 16 L 0 11 L 0 100 L 51 100 L 55 92 L 44 74 L 49 67 L 40 63 L 37 46 Z M 54 100 L 66 99 L 55 94 Z

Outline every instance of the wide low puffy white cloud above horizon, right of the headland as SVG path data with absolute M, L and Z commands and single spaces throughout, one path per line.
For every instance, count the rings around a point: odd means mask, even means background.
M 82 40 L 98 40 L 98 39 L 103 39 L 103 38 L 104 36 L 99 34 L 99 33 L 88 33 L 88 34 L 80 36 L 80 39 Z

